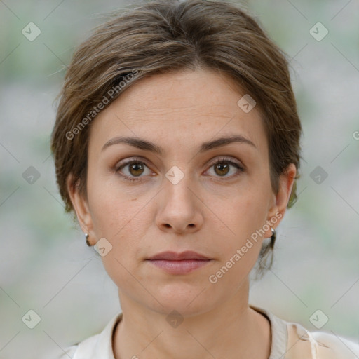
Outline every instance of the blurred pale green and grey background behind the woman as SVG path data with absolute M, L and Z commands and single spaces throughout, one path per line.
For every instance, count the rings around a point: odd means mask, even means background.
M 120 310 L 100 257 L 65 215 L 49 140 L 74 48 L 101 14 L 127 4 L 0 1 L 0 358 L 50 358 Z M 252 282 L 250 303 L 309 330 L 320 309 L 329 318 L 320 330 L 359 341 L 359 3 L 241 4 L 292 58 L 304 128 L 298 201 L 278 228 L 273 269 Z M 33 41 L 22 34 L 29 22 L 41 31 Z M 328 30 L 321 41 L 310 33 L 317 22 Z M 41 317 L 34 329 L 22 322 L 30 309 Z

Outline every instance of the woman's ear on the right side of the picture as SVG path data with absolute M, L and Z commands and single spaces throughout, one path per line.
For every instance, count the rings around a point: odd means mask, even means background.
M 274 228 L 278 226 L 280 221 L 283 219 L 285 210 L 287 210 L 287 204 L 290 200 L 290 194 L 294 184 L 295 176 L 297 175 L 297 168 L 294 163 L 290 163 L 287 170 L 280 175 L 279 178 L 279 190 L 278 194 L 273 193 L 271 201 L 271 207 L 268 211 L 267 224 Z M 266 237 L 271 237 L 271 229 L 267 231 Z

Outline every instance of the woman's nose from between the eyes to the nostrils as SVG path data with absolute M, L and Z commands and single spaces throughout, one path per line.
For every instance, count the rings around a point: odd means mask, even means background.
M 164 181 L 156 215 L 156 225 L 162 231 L 195 233 L 203 225 L 203 203 L 187 177 L 184 176 L 177 184 L 168 179 Z

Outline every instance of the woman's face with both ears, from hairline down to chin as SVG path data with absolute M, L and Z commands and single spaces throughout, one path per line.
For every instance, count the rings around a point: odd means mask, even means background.
M 87 199 L 70 196 L 90 242 L 105 238 L 120 301 L 186 316 L 247 299 L 241 285 L 271 236 L 267 221 L 283 217 L 295 167 L 274 194 L 262 118 L 238 106 L 243 95 L 217 72 L 155 75 L 93 121 Z M 165 251 L 208 260 L 149 260 Z

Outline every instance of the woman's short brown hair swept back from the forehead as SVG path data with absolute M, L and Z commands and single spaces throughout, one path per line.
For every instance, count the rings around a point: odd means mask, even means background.
M 72 185 L 86 196 L 88 131 L 96 105 L 114 89 L 107 103 L 138 79 L 181 69 L 222 72 L 257 102 L 277 193 L 279 176 L 290 163 L 298 170 L 300 161 L 302 127 L 288 65 L 285 53 L 252 15 L 227 1 L 156 0 L 116 14 L 76 50 L 59 95 L 51 149 L 66 211 L 73 210 L 66 186 L 69 174 Z M 134 71 L 136 76 L 130 77 Z M 121 81 L 126 86 L 119 86 Z M 287 207 L 296 199 L 294 182 Z M 271 241 L 262 248 L 260 259 L 273 245 Z

